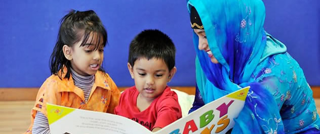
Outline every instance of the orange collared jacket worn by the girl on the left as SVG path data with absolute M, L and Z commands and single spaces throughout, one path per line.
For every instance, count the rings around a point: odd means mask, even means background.
M 71 74 L 69 79 L 62 80 L 57 75 L 51 75 L 37 93 L 31 110 L 31 124 L 25 133 L 31 133 L 36 112 L 42 112 L 48 117 L 47 103 L 113 114 L 119 98 L 120 92 L 117 86 L 108 74 L 101 71 L 95 74 L 95 81 L 87 102 L 83 90 L 74 85 Z

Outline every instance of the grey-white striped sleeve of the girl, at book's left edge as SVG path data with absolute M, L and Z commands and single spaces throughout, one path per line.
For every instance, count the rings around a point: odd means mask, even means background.
M 33 134 L 50 133 L 48 118 L 41 112 L 37 112 L 35 114 L 35 118 L 32 126 L 32 133 Z

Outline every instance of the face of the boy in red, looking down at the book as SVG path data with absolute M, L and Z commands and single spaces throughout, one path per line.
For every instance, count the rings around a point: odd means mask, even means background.
M 140 93 L 141 99 L 152 101 L 163 93 L 167 82 L 171 80 L 176 72 L 176 67 L 169 72 L 168 66 L 162 59 L 139 58 L 134 66 L 128 63 L 131 77 Z

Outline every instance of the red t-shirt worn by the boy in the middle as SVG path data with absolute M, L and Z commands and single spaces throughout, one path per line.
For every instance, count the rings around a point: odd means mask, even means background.
M 149 130 L 154 127 L 163 128 L 182 117 L 178 96 L 170 90 L 169 86 L 142 112 L 136 105 L 138 95 L 136 86 L 124 91 L 121 94 L 119 105 L 114 109 L 114 114 L 130 118 Z

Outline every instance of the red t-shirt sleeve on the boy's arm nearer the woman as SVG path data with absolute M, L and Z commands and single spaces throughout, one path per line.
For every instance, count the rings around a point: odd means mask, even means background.
M 182 117 L 178 97 L 175 93 L 173 96 L 167 96 L 165 99 L 158 100 L 158 102 L 157 119 L 153 128 L 163 128 Z

